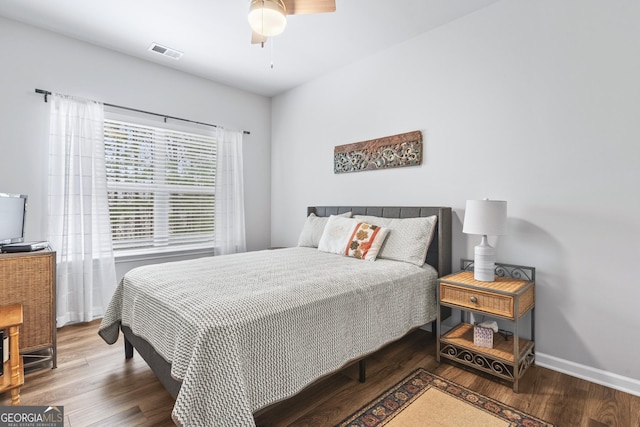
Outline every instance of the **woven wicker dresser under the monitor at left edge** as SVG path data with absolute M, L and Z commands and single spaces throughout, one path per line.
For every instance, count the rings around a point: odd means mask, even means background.
M 25 369 L 57 365 L 55 278 L 53 251 L 0 254 L 0 304 L 22 304 Z

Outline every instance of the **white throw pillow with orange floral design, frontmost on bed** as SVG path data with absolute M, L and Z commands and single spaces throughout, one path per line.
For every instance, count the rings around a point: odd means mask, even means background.
M 353 218 L 330 216 L 318 250 L 375 261 L 389 230 Z

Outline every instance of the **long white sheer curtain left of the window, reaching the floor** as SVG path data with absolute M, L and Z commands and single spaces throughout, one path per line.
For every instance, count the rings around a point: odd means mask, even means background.
M 48 239 L 57 326 L 101 317 L 116 286 L 101 103 L 51 96 Z

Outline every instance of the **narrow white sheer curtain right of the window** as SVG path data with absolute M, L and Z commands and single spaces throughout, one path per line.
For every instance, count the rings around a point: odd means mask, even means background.
M 242 131 L 216 129 L 216 255 L 245 252 Z

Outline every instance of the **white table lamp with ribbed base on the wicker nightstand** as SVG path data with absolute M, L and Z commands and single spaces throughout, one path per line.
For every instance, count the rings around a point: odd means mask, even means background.
M 496 249 L 487 236 L 506 234 L 507 202 L 502 200 L 467 200 L 462 232 L 479 234 L 482 241 L 474 248 L 473 278 L 481 282 L 493 282 Z

